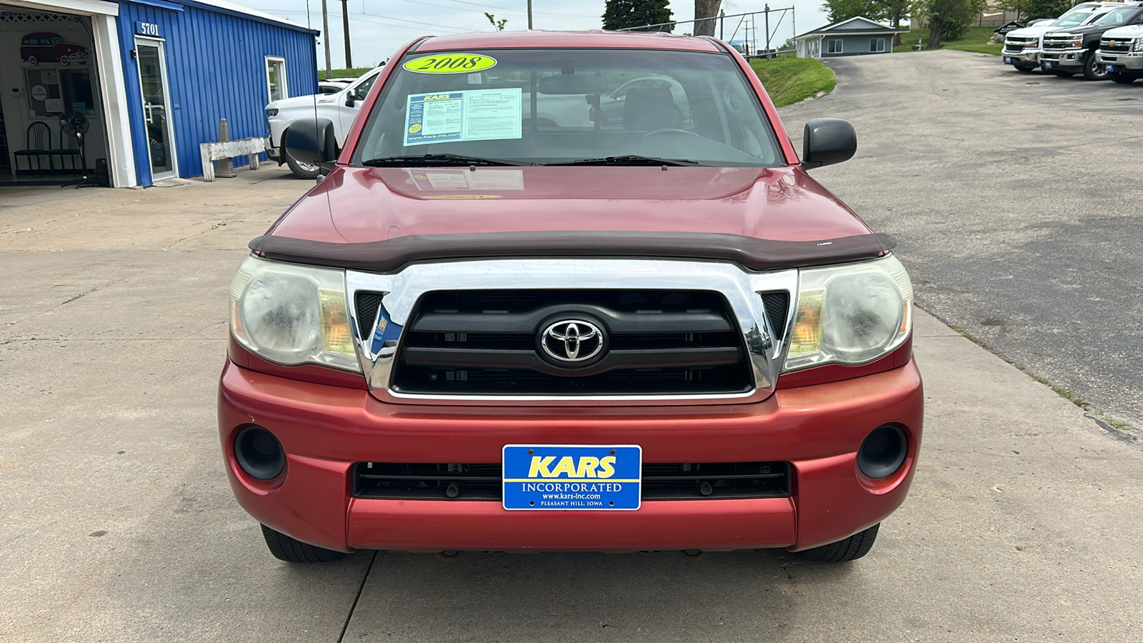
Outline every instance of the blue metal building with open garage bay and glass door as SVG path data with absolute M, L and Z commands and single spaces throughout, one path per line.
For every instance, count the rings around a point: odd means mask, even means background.
M 32 146 L 33 127 L 64 146 L 61 117 L 77 111 L 90 127 L 80 173 L 102 164 L 115 186 L 199 176 L 199 144 L 218 140 L 221 118 L 231 140 L 265 136 L 266 103 L 317 93 L 318 33 L 226 0 L 0 0 L 0 86 L 9 88 L 0 182 L 5 167 L 14 181 L 67 169 L 49 158 L 32 167 L 19 150 Z M 54 42 L 69 54 L 54 55 Z

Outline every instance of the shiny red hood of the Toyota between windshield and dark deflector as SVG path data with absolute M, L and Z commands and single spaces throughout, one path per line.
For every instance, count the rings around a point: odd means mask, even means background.
M 335 244 L 546 231 L 814 241 L 871 230 L 800 167 L 339 166 L 267 235 Z

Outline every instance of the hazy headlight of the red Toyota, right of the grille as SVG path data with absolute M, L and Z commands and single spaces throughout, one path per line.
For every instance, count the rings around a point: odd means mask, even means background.
M 801 270 L 783 371 L 856 366 L 893 352 L 912 330 L 913 286 L 897 257 Z

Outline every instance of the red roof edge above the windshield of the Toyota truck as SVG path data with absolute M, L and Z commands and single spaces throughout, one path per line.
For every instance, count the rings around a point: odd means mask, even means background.
M 681 49 L 721 53 L 714 41 L 690 35 L 672 35 L 661 31 L 498 31 L 459 35 L 432 37 L 421 42 L 416 51 L 442 51 L 469 48 L 553 48 L 592 47 L 623 49 Z

